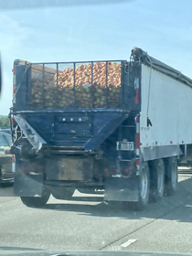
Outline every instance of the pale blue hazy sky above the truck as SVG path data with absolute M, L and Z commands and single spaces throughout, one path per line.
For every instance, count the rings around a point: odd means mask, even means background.
M 191 0 L 112 0 L 112 4 L 105 5 L 11 10 L 1 8 L 3 1 L 0 0 L 0 115 L 8 114 L 12 104 L 15 59 L 129 59 L 132 48 L 139 47 L 192 78 Z

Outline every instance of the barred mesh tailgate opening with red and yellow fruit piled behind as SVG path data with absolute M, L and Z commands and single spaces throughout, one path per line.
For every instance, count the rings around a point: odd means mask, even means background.
M 121 61 L 31 64 L 36 108 L 120 108 Z

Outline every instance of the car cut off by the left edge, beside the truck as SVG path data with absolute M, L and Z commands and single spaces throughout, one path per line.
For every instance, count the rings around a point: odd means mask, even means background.
M 0 132 L 0 184 L 14 182 L 14 155 L 5 154 L 11 144 L 11 135 Z

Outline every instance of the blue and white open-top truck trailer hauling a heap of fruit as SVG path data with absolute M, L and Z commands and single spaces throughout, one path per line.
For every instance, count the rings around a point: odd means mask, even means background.
M 14 193 L 27 207 L 78 189 L 141 209 L 176 192 L 178 159 L 192 161 L 181 72 L 133 48 L 129 60 L 16 59 L 13 74 Z

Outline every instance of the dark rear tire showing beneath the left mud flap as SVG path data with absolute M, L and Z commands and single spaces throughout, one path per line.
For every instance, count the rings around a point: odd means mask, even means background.
M 24 205 L 26 205 L 28 208 L 40 208 L 44 207 L 47 202 L 48 198 L 50 197 L 50 192 L 47 188 L 43 188 L 43 194 L 42 197 L 20 197 L 21 201 Z

